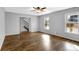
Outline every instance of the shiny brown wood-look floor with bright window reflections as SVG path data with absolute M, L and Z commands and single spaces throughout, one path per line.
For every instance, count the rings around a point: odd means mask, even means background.
M 44 33 L 7 36 L 2 51 L 79 51 L 79 42 Z

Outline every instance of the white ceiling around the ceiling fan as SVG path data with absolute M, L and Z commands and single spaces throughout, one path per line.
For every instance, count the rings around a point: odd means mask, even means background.
M 13 13 L 21 13 L 21 14 L 28 14 L 28 15 L 44 15 L 55 11 L 60 11 L 64 9 L 68 9 L 70 7 L 47 7 L 46 12 L 43 13 L 36 13 L 32 10 L 32 7 L 5 7 L 6 12 L 13 12 Z

